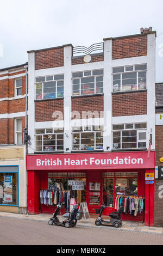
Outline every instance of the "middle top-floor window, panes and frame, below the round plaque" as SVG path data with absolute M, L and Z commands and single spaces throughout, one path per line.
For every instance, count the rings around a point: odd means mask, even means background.
M 72 95 L 103 93 L 103 69 L 72 73 Z

